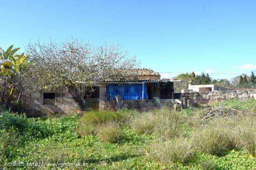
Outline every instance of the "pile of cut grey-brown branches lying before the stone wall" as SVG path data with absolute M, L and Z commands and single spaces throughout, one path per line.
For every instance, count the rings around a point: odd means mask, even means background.
M 250 114 L 255 115 L 256 113 L 249 113 L 245 111 L 236 110 L 234 108 L 225 107 L 224 105 L 220 107 L 209 107 L 203 110 L 198 110 L 194 116 L 202 120 L 211 120 L 216 118 L 229 118 L 237 114 Z

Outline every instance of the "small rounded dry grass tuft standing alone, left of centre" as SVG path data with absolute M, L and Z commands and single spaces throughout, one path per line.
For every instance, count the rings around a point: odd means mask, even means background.
M 116 122 L 108 122 L 97 127 L 97 136 L 104 142 L 115 143 L 121 139 L 121 129 Z

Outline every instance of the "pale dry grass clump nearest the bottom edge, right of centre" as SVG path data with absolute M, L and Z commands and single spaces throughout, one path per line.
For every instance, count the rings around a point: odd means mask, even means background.
M 152 143 L 148 148 L 148 157 L 152 160 L 168 163 L 184 163 L 192 154 L 191 144 L 185 138 Z

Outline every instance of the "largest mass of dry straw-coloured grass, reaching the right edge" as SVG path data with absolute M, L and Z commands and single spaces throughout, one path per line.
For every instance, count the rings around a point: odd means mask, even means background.
M 232 149 L 243 149 L 255 155 L 256 118 L 238 115 L 228 119 L 212 120 L 196 129 L 192 144 L 196 151 L 223 155 Z

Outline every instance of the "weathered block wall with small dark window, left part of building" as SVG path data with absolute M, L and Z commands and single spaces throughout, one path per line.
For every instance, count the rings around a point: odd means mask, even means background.
M 55 99 L 43 99 L 43 93 L 55 93 Z M 54 113 L 70 114 L 81 110 L 77 102 L 78 98 L 83 98 L 85 93 L 77 89 L 67 90 L 60 88 L 53 91 L 31 92 L 25 90 L 23 112 L 27 116 L 51 115 Z M 84 99 L 89 108 L 99 109 L 99 99 Z

